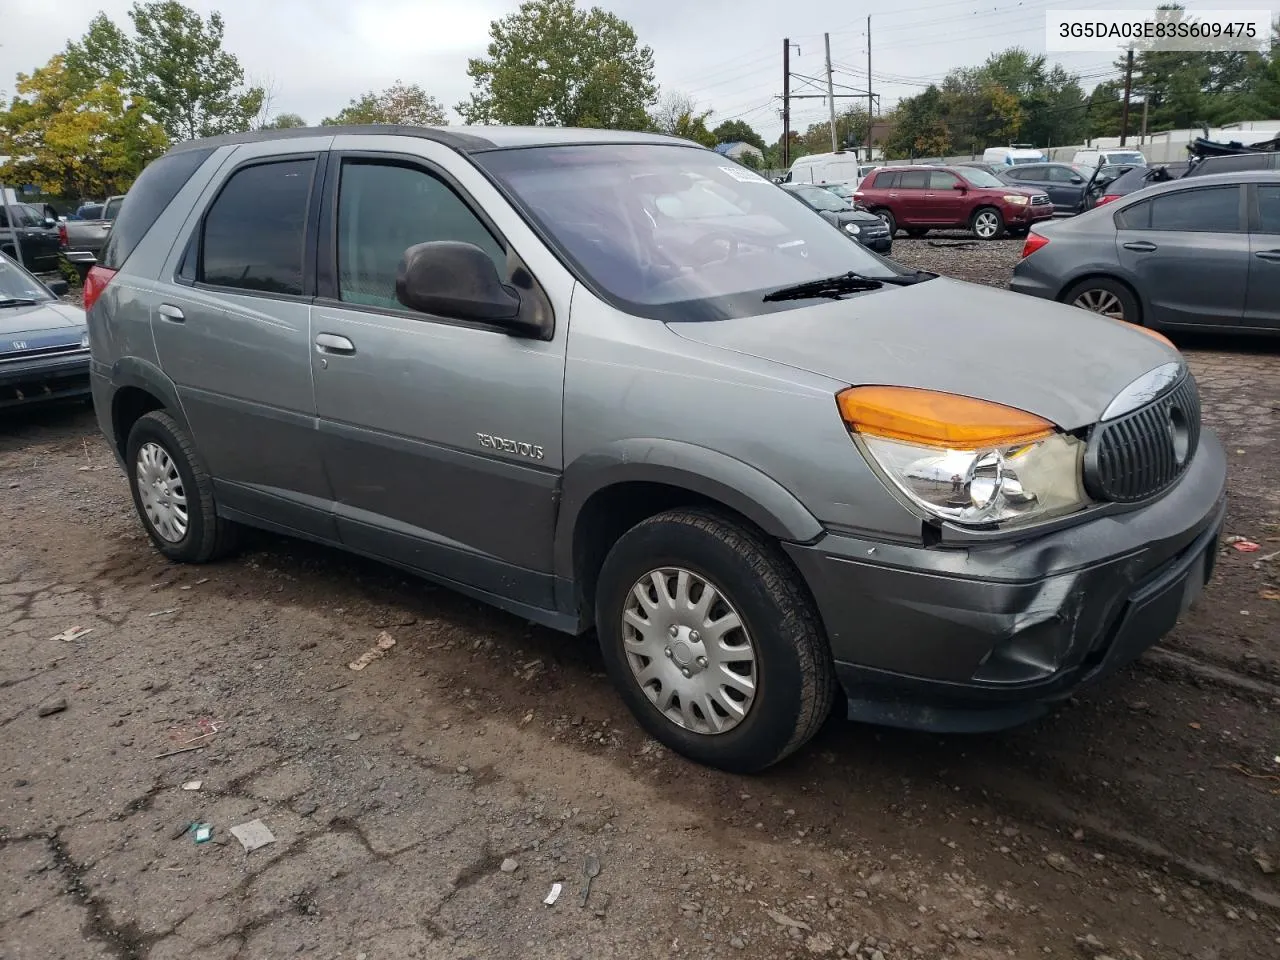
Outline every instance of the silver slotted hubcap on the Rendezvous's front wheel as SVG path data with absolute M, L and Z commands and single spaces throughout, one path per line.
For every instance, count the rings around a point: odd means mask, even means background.
M 645 696 L 677 727 L 724 733 L 755 700 L 755 646 L 708 580 L 664 567 L 640 577 L 622 612 L 622 646 Z

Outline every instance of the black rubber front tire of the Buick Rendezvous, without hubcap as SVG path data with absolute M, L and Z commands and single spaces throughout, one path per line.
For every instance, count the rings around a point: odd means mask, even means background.
M 724 732 L 703 733 L 668 719 L 636 681 L 623 648 L 632 588 L 671 567 L 710 582 L 737 611 L 754 648 L 754 699 Z M 808 742 L 831 713 L 831 648 L 799 575 L 760 535 L 714 512 L 668 511 L 627 531 L 600 570 L 595 623 L 609 676 L 640 726 L 699 763 L 759 772 Z

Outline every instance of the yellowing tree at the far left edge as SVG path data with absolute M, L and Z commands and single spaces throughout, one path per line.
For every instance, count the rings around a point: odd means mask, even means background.
M 18 74 L 17 91 L 0 111 L 0 155 L 10 157 L 0 180 L 67 198 L 123 193 L 168 146 L 150 104 L 110 79 L 86 86 L 61 55 Z

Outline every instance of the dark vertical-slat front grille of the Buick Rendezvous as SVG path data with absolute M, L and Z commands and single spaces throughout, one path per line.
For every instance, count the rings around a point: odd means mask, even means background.
M 1192 462 L 1199 433 L 1199 393 L 1187 374 L 1151 403 L 1094 428 L 1084 486 L 1094 499 L 1115 503 L 1155 497 Z

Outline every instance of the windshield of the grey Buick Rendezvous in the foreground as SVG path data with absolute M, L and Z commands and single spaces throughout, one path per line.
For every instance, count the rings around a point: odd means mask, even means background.
M 803 302 L 764 303 L 763 294 L 849 271 L 910 273 L 708 150 L 594 143 L 495 150 L 476 161 L 584 282 L 641 316 L 723 320 L 790 310 Z

